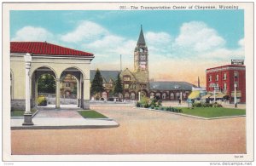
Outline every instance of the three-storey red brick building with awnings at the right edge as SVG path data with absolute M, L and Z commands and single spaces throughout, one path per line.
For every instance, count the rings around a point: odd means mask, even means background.
M 236 101 L 246 102 L 246 66 L 217 66 L 208 68 L 206 74 L 207 92 L 213 92 L 215 87 L 217 93 L 229 96 L 230 103 L 234 103 L 236 85 Z

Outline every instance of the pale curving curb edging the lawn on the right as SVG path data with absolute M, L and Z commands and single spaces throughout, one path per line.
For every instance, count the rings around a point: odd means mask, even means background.
M 171 114 L 174 114 L 174 115 L 179 115 L 179 116 L 183 116 L 183 117 L 192 117 L 192 118 L 197 118 L 197 119 L 202 119 L 202 120 L 217 120 L 217 119 L 222 119 L 222 118 L 246 117 L 246 115 L 236 115 L 236 116 L 229 116 L 229 117 L 197 117 L 197 116 L 187 115 L 187 114 L 177 113 L 177 112 L 166 112 L 166 111 L 162 111 L 162 110 L 155 110 L 155 109 L 148 109 L 148 108 L 133 107 L 133 109 L 135 109 L 135 108 L 142 109 L 142 110 L 149 110 L 149 111 L 153 111 L 153 112 L 171 113 Z

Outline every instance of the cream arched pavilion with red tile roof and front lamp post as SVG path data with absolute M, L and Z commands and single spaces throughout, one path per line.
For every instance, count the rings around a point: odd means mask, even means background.
M 11 107 L 26 109 L 24 124 L 32 124 L 31 107 L 38 103 L 38 78 L 45 73 L 55 77 L 55 107 L 60 108 L 60 81 L 66 74 L 78 80 L 78 106 L 89 108 L 90 61 L 94 54 L 46 42 L 11 42 Z

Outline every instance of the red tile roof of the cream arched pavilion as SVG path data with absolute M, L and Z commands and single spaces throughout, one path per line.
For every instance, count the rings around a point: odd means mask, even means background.
M 11 53 L 49 54 L 49 55 L 73 55 L 73 56 L 93 56 L 91 53 L 68 49 L 52 43 L 46 42 L 11 42 Z

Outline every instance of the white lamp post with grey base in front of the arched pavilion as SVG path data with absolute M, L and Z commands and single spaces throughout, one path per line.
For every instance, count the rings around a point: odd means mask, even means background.
M 24 123 L 22 125 L 33 125 L 32 123 L 32 112 L 30 110 L 30 77 L 29 77 L 29 71 L 30 66 L 32 62 L 32 56 L 31 54 L 25 54 L 24 55 L 25 60 L 25 66 L 26 66 L 26 73 L 25 73 L 25 82 L 26 82 L 26 110 L 24 112 Z

